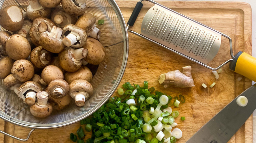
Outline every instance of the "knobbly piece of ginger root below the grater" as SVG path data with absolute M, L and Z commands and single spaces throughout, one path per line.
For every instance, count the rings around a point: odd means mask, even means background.
M 182 68 L 182 73 L 179 70 L 170 71 L 161 74 L 158 78 L 160 85 L 164 88 L 174 86 L 174 87 L 194 87 L 194 80 L 191 75 L 191 66 L 186 66 Z

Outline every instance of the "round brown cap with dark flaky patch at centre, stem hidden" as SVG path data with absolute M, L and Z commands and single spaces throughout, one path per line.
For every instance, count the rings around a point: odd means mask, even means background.
M 34 75 L 34 67 L 30 61 L 19 59 L 13 63 L 11 74 L 19 81 L 26 82 Z

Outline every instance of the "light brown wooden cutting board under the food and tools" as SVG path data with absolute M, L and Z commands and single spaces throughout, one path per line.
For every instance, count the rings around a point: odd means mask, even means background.
M 118 0 L 125 21 L 127 22 L 137 1 L 135 0 Z M 140 24 L 146 11 L 152 6 L 148 2 L 143 2 L 143 8 L 138 16 L 136 24 L 132 27 L 135 31 L 140 31 Z M 172 8 L 196 21 L 210 26 L 231 37 L 233 40 L 234 53 L 243 51 L 251 55 L 251 7 L 243 2 L 191 2 L 191 1 L 159 1 L 160 4 Z M 226 104 L 228 104 L 237 95 L 242 93 L 251 85 L 251 81 L 242 78 L 237 81 L 239 74 L 230 71 L 228 65 L 224 66 L 220 78 L 215 80 L 211 70 L 193 63 L 171 51 L 168 51 L 154 43 L 135 36 L 129 35 L 129 57 L 125 73 L 119 85 L 125 82 L 131 82 L 142 85 L 143 81 L 149 82 L 149 87 L 155 87 L 156 90 L 162 91 L 167 95 L 178 96 L 182 94 L 186 98 L 186 103 L 181 104 L 178 110 L 180 116 L 176 119 L 178 128 L 183 132 L 183 136 L 178 143 L 184 143 L 193 134 L 195 134 L 208 120 L 217 114 Z M 222 42 L 219 54 L 210 64 L 214 67 L 229 59 L 229 44 L 227 40 Z M 195 87 L 192 88 L 163 88 L 159 85 L 157 79 L 161 73 L 173 70 L 181 70 L 182 67 L 191 65 L 192 76 Z M 216 85 L 209 88 L 213 82 Z M 204 89 L 201 84 L 208 85 Z M 115 92 L 114 96 L 117 95 Z M 185 121 L 180 117 L 185 116 Z M 238 115 L 239 118 L 239 115 Z M 69 126 L 56 129 L 36 129 L 33 131 L 28 143 L 68 143 L 71 132 L 75 133 L 79 128 L 79 122 Z M 0 120 L 0 129 L 4 130 L 4 121 Z M 9 127 L 6 127 L 6 130 Z M 26 138 L 30 129 L 15 125 L 15 136 Z M 91 133 L 86 132 L 86 139 Z M 252 143 L 252 116 L 245 122 L 241 129 L 234 135 L 229 143 Z M 0 134 L 0 142 L 3 135 Z M 20 141 L 14 140 L 15 143 Z

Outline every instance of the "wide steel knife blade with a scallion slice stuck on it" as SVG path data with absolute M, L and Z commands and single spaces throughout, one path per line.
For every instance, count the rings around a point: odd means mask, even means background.
M 239 96 L 245 96 L 248 103 L 245 107 L 237 104 Z M 256 108 L 256 84 L 246 89 L 218 114 L 210 119 L 186 143 L 226 143 L 245 123 Z

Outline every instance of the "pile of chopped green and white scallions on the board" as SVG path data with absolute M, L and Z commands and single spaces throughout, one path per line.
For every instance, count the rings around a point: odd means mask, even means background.
M 147 81 L 142 87 L 129 82 L 122 87 L 125 90 L 117 90 L 120 97 L 111 97 L 91 118 L 80 121 L 81 125 L 86 124 L 86 131 L 92 131 L 86 143 L 174 143 L 181 138 L 180 129 L 171 131 L 177 126 L 175 118 L 179 116 L 178 111 L 168 107 L 171 96 L 155 91 L 154 87 L 148 88 Z M 185 102 L 184 96 L 179 98 L 180 101 L 175 97 L 173 102 L 176 107 Z M 71 133 L 70 139 L 84 142 L 82 127 L 77 130 L 77 136 Z

